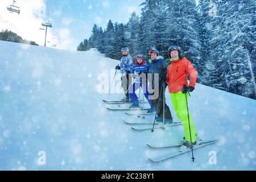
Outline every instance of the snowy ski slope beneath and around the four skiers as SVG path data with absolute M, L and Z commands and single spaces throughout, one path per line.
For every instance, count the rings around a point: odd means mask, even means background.
M 255 170 L 256 101 L 197 84 L 189 109 L 199 136 L 220 142 L 151 163 L 147 143 L 176 143 L 183 127 L 134 131 L 123 111 L 109 111 L 101 100 L 123 94 L 97 92 L 98 75 L 119 62 L 95 50 L 63 51 L 0 41 L 0 169 L 81 170 Z M 171 100 L 166 92 L 168 105 Z M 172 106 L 171 106 L 172 110 Z M 174 111 L 172 110 L 172 115 Z M 152 116 L 147 116 L 148 120 Z M 39 151 L 46 164 L 38 163 Z M 210 165 L 209 151 L 217 152 Z

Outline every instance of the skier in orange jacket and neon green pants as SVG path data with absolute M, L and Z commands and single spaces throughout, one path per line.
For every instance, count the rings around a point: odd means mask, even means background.
M 177 118 L 180 119 L 184 126 L 185 142 L 183 146 L 191 147 L 191 144 L 196 144 L 196 131 L 192 118 L 188 113 L 187 102 L 189 92 L 195 89 L 198 73 L 189 60 L 185 57 L 181 58 L 181 51 L 178 46 L 170 46 L 168 51 L 171 57 L 171 64 L 167 68 L 166 82 L 171 95 L 172 106 Z M 189 84 L 187 82 L 188 75 L 190 76 Z

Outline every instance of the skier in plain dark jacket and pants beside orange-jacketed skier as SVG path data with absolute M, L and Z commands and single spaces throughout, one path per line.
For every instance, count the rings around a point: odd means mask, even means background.
M 172 123 L 172 115 L 169 107 L 166 105 L 166 99 L 163 93 L 166 90 L 166 73 L 167 73 L 167 64 L 163 60 L 162 56 L 159 55 L 159 51 L 156 49 L 151 49 L 149 52 L 151 57 L 151 63 L 148 65 L 147 73 L 152 74 L 152 85 L 154 85 L 154 90 L 158 89 L 159 96 L 155 100 L 151 100 L 152 104 L 155 107 L 157 117 L 156 122 L 164 122 L 165 123 Z M 155 85 L 155 76 L 154 74 L 159 75 L 159 84 Z M 158 86 L 158 87 L 156 87 Z M 161 89 L 162 88 L 162 89 Z M 164 98 L 163 98 L 164 97 Z

